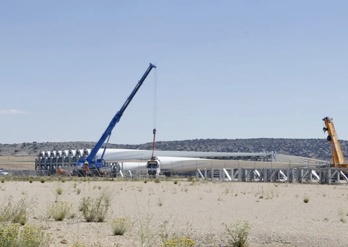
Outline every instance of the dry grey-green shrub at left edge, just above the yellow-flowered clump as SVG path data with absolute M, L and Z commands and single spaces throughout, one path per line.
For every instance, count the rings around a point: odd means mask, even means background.
M 27 203 L 25 202 L 25 199 L 13 203 L 12 198 L 13 197 L 10 197 L 8 199 L 7 205 L 0 211 L 0 221 L 25 225 L 28 220 L 28 214 L 26 212 L 28 207 Z

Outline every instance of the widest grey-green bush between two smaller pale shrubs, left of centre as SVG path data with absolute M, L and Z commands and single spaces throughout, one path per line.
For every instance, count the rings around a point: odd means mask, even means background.
M 96 199 L 84 197 L 79 209 L 87 222 L 104 222 L 109 207 L 103 204 L 103 196 Z

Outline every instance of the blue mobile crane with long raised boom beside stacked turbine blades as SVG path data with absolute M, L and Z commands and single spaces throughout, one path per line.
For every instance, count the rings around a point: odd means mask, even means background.
M 104 157 L 104 154 L 105 154 L 106 145 L 108 145 L 108 142 L 109 142 L 109 139 L 110 139 L 111 131 L 115 127 L 115 125 L 120 121 L 120 118 L 123 115 L 123 113 L 125 112 L 125 110 L 126 110 L 127 106 L 129 105 L 130 101 L 133 99 L 135 93 L 139 90 L 140 86 L 143 84 L 144 80 L 149 75 L 149 73 L 150 73 L 152 68 L 156 68 L 156 66 L 150 63 L 148 69 L 145 71 L 144 75 L 141 77 L 139 82 L 136 84 L 135 88 L 133 89 L 132 93 L 130 93 L 129 97 L 127 98 L 126 102 L 123 104 L 121 109 L 112 118 L 109 126 L 106 128 L 106 130 L 103 133 L 102 137 L 99 139 L 97 144 L 94 146 L 94 148 L 92 149 L 92 151 L 90 152 L 88 157 L 86 159 L 84 159 L 84 158 L 79 159 L 78 162 L 77 162 L 77 167 L 85 167 L 86 169 L 93 169 L 93 168 L 104 167 L 102 161 L 103 161 L 103 157 Z M 102 145 L 105 142 L 106 138 L 108 138 L 108 141 L 105 144 L 105 147 L 104 147 L 104 150 L 103 150 L 103 154 L 102 154 L 100 159 L 96 159 L 95 160 L 94 157 L 96 156 L 96 154 L 99 151 L 99 149 L 102 147 Z M 85 165 L 86 162 L 88 162 L 88 167 L 86 167 L 86 165 Z

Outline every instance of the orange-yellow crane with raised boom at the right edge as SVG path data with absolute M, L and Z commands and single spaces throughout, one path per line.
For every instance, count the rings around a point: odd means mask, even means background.
M 323 128 L 324 133 L 327 131 L 329 135 L 327 135 L 326 140 L 330 142 L 332 149 L 332 167 L 335 168 L 346 168 L 348 164 L 346 163 L 345 157 L 343 156 L 343 152 L 341 149 L 340 142 L 337 138 L 337 133 L 335 131 L 335 127 L 332 122 L 332 117 L 323 118 L 325 123 L 325 127 Z

